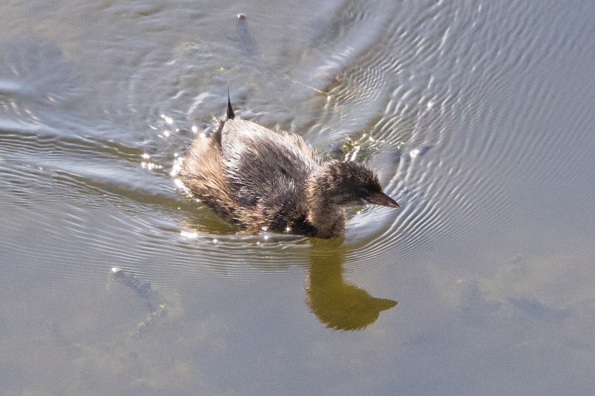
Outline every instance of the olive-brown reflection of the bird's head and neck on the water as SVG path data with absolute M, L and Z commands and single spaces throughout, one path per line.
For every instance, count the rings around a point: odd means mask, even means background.
M 378 319 L 380 311 L 396 301 L 372 297 L 361 287 L 343 280 L 345 248 L 335 240 L 311 240 L 306 300 L 327 328 L 362 330 Z

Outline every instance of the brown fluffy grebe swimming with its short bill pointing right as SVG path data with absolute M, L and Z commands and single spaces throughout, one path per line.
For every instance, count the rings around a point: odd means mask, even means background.
M 378 178 L 352 161 L 322 163 L 301 137 L 227 115 L 199 136 L 178 173 L 193 197 L 248 232 L 332 238 L 345 232 L 347 205 L 398 208 Z

